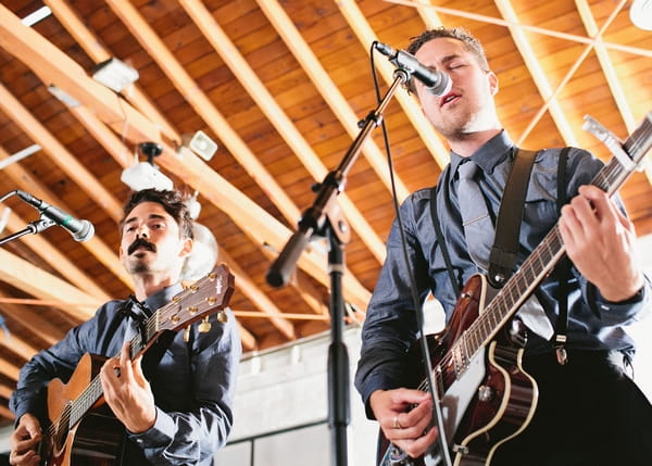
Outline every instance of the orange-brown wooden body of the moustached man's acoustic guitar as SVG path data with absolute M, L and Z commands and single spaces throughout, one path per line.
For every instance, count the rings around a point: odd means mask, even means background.
M 48 386 L 48 416 L 58 421 L 43 432 L 39 452 L 42 466 L 120 464 L 124 426 L 111 414 L 103 399 L 98 400 L 79 423 L 70 426 L 73 401 L 83 395 L 104 361 L 105 357 L 85 354 L 66 385 L 54 379 Z

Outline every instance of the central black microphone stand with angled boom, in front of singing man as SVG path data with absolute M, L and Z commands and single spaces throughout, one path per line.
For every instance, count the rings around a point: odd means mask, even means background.
M 344 189 L 347 174 L 358 160 L 362 146 L 372 130 L 383 122 L 383 112 L 399 85 L 410 78 L 405 70 L 394 72 L 394 80 L 387 95 L 361 122 L 361 131 L 344 154 L 339 166 L 328 173 L 315 187 L 316 199 L 305 210 L 299 221 L 299 228 L 290 237 L 276 261 L 269 267 L 266 278 L 274 287 L 283 287 L 289 281 L 299 256 L 313 237 L 326 237 L 329 242 L 328 273 L 330 275 L 330 322 L 331 342 L 328 349 L 328 426 L 331 432 L 331 464 L 347 465 L 347 427 L 350 423 L 349 406 L 349 357 L 342 339 L 343 295 L 341 278 L 344 272 L 343 244 L 349 241 L 350 231 L 339 215 L 335 199 Z

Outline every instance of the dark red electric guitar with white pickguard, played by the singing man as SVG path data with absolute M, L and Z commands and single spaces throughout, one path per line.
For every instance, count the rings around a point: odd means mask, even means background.
M 612 196 L 652 147 L 652 113 L 624 143 L 586 118 L 585 129 L 615 154 L 591 181 Z M 489 465 L 497 449 L 531 420 L 538 402 L 537 383 L 523 370 L 523 349 L 502 344 L 501 330 L 564 252 L 555 226 L 491 300 L 485 276 L 474 275 L 462 290 L 447 328 L 435 336 L 431 378 L 441 400 L 443 430 L 454 466 Z M 418 389 L 429 390 L 428 378 Z M 383 432 L 379 446 L 380 466 L 434 466 L 443 459 L 437 442 L 418 458 L 408 456 Z

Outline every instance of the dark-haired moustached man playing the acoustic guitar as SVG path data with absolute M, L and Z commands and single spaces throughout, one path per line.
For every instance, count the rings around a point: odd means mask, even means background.
M 105 303 L 23 367 L 11 396 L 17 421 L 12 465 L 39 464 L 37 445 L 48 423 L 46 386 L 54 378 L 67 381 L 86 353 L 109 357 L 100 370 L 102 393 L 127 440 L 117 464 L 208 466 L 226 442 L 241 355 L 233 315 L 225 324 L 211 317 L 208 331 L 192 325 L 186 336 L 172 336 L 147 377 L 142 357 L 131 361 L 129 353 L 142 319 L 183 291 L 179 276 L 192 250 L 187 205 L 176 191 L 135 192 L 120 231 L 120 259 L 134 278 L 134 297 Z

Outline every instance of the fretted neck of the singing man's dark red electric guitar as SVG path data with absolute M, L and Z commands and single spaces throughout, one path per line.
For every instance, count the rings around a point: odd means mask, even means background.
M 652 114 L 648 114 L 642 124 L 623 144 L 623 150 L 632 161 L 631 168 L 626 168 L 616 158 L 613 158 L 595 175 L 591 185 L 599 187 L 609 196 L 623 186 L 652 147 L 651 118 Z M 565 248 L 559 226 L 555 225 L 505 286 L 500 289 L 464 336 L 455 342 L 451 351 L 463 352 L 462 354 L 465 354 L 467 358 L 473 357 L 518 311 L 535 288 L 564 255 L 564 252 Z

